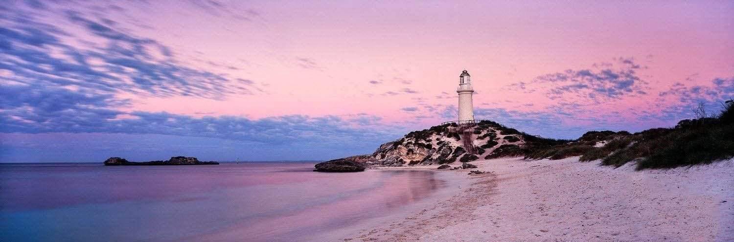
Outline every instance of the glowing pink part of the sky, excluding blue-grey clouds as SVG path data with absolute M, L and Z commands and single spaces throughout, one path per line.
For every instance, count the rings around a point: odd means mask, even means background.
M 649 95 L 602 104 L 605 110 L 623 111 L 647 106 L 675 82 L 708 85 L 713 78 L 731 76 L 732 5 L 273 1 L 232 8 L 257 12 L 251 21 L 187 9 L 161 15 L 148 15 L 148 8 L 131 10 L 155 28 L 138 29 L 137 34 L 155 36 L 192 65 L 250 79 L 264 90 L 221 101 L 137 98 L 131 109 L 251 118 L 368 113 L 385 121 L 405 120 L 413 114 L 399 109 L 419 106 L 413 98 L 426 98 L 429 105 L 455 104 L 435 95 L 455 95 L 458 74 L 466 69 L 479 92 L 474 102 L 479 107 L 538 111 L 554 102 L 505 87 L 623 57 L 647 67 L 639 76 L 651 88 Z M 195 59 L 241 70 L 222 70 Z M 694 78 L 686 81 L 689 76 Z M 382 83 L 370 84 L 372 80 Z M 419 93 L 380 95 L 404 88 Z M 518 105 L 524 103 L 536 105 Z

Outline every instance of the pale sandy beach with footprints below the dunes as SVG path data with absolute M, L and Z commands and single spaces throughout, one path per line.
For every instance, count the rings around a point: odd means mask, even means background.
M 465 179 L 456 183 L 461 191 L 323 238 L 734 241 L 734 161 L 643 172 L 631 165 L 613 169 L 597 162 L 581 163 L 578 158 L 504 158 L 472 164 L 491 173 L 437 171 Z M 435 169 L 417 167 L 390 169 Z M 337 237 L 341 239 L 333 239 Z

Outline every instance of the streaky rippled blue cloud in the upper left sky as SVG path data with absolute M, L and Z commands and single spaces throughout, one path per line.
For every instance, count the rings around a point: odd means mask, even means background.
M 4 78 L 14 83 L 218 100 L 256 90 L 225 74 L 183 65 L 167 46 L 129 34 L 114 21 L 66 11 L 54 12 L 58 22 L 45 23 L 23 10 L 1 11 L 0 70 L 9 72 Z M 71 34 L 62 26 L 85 33 Z

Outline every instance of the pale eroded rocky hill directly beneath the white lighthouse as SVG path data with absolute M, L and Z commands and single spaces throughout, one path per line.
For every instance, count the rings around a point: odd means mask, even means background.
M 476 155 L 466 153 L 461 137 L 448 132 L 449 125 L 413 131 L 395 142 L 382 144 L 372 153 L 376 166 L 405 166 L 420 164 L 450 164 L 468 162 L 479 157 L 522 155 L 525 140 L 515 129 L 496 122 L 482 121 L 475 125 L 471 138 Z

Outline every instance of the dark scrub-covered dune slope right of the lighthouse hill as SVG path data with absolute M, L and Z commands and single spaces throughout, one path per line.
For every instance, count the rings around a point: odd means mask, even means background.
M 606 142 L 603 147 L 593 146 Z M 526 158 L 560 159 L 581 155 L 580 161 L 602 159 L 622 166 L 637 161 L 637 169 L 672 168 L 734 157 L 734 106 L 718 117 L 681 120 L 675 128 L 652 128 L 639 133 L 590 131 L 573 142 L 535 147 Z

